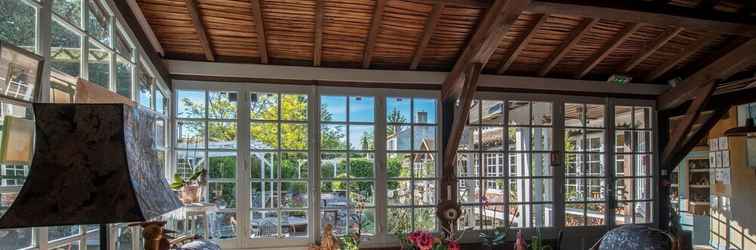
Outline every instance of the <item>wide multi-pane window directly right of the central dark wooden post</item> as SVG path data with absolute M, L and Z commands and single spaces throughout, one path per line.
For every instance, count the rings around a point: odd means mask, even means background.
M 473 103 L 457 155 L 461 227 L 553 226 L 552 117 L 550 102 Z

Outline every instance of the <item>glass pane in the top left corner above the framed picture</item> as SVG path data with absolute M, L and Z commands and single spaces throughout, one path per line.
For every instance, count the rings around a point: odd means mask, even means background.
M 36 44 L 37 18 L 34 7 L 18 0 L 0 1 L 0 27 L 2 27 L 0 28 L 1 40 L 28 51 L 36 51 L 34 45 Z

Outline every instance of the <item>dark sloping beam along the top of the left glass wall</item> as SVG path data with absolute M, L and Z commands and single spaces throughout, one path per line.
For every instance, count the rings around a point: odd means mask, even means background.
M 127 1 L 113 1 L 115 3 L 116 9 L 118 9 L 118 12 L 123 16 L 123 19 L 126 20 L 126 25 L 129 26 L 131 31 L 134 32 L 134 36 L 136 37 L 136 42 L 139 43 L 139 45 L 144 48 L 145 54 L 147 54 L 147 60 L 152 63 L 153 66 L 155 66 L 155 69 L 158 71 L 158 74 L 160 74 L 160 77 L 166 82 L 169 88 L 173 88 L 173 84 L 171 83 L 171 77 L 168 73 L 168 68 L 163 64 L 163 59 L 160 57 L 160 54 L 157 52 L 155 47 L 152 46 L 152 43 L 150 42 L 149 38 L 147 38 L 146 32 L 142 29 L 141 25 L 139 25 L 139 21 L 137 20 L 137 17 L 134 15 L 134 11 L 131 10 L 131 7 L 129 6 Z

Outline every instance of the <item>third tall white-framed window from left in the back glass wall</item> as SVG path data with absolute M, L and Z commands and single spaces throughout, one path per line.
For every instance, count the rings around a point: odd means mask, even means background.
M 321 224 L 375 234 L 375 98 L 320 97 Z

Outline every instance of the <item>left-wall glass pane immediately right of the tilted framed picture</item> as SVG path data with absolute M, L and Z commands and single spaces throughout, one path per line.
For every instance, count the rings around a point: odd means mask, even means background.
M 58 4 L 59 2 L 61 1 L 55 1 L 55 4 Z M 60 70 L 68 75 L 74 77 L 80 76 L 81 37 L 63 27 L 57 21 L 53 21 L 51 29 L 52 41 L 50 41 L 50 65 L 54 69 Z

